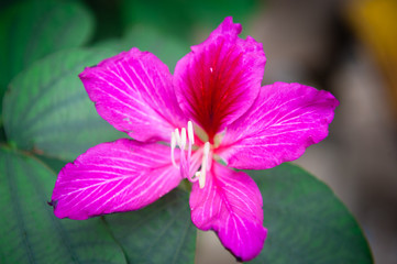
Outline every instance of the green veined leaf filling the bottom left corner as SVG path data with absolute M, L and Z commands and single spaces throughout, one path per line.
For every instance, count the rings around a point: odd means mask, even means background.
M 0 263 L 125 263 L 100 218 L 57 219 L 47 205 L 55 174 L 0 147 Z

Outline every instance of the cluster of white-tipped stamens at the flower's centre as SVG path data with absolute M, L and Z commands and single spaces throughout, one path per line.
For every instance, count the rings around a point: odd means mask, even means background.
M 183 177 L 188 178 L 191 183 L 199 180 L 200 188 L 206 185 L 207 172 L 211 168 L 212 152 L 211 144 L 207 141 L 203 146 L 196 150 L 195 146 L 195 133 L 192 122 L 188 121 L 187 129 L 175 129 L 170 133 L 170 160 L 175 167 L 179 167 Z M 179 166 L 175 162 L 175 150 L 179 147 Z M 187 154 L 186 154 L 187 152 Z M 201 160 L 201 163 L 200 163 Z M 200 168 L 200 170 L 198 170 Z

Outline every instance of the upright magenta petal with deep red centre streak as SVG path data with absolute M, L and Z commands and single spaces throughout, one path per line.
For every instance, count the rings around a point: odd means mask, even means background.
M 227 18 L 175 68 L 180 108 L 210 139 L 244 113 L 261 88 L 266 62 L 262 44 L 238 37 L 241 30 Z

